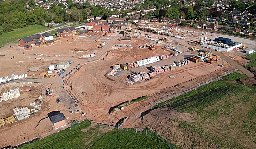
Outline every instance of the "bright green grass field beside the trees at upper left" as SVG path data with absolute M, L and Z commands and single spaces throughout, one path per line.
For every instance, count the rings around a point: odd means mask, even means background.
M 48 30 L 49 28 L 43 27 L 40 25 L 33 25 L 23 28 L 18 28 L 17 30 L 4 33 L 0 35 L 0 45 L 2 47 L 3 44 L 7 44 L 9 42 L 15 42 L 16 40 L 19 40 L 20 38 L 24 38 L 30 35 L 34 35 L 38 32 Z

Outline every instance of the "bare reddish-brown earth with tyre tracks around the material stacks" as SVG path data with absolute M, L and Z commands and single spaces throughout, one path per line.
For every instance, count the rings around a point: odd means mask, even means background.
M 210 34 L 210 33 L 208 33 Z M 159 35 L 160 36 L 160 35 Z M 160 36 L 163 37 L 163 36 Z M 224 37 L 224 36 L 223 36 Z M 229 37 L 229 36 L 227 36 Z M 169 54 L 168 52 L 164 52 L 161 49 L 161 46 L 158 47 L 158 50 L 151 51 L 147 48 L 139 49 L 138 44 L 146 44 L 150 43 L 145 38 L 139 38 L 139 42 L 135 42 L 132 40 L 130 43 L 132 47 L 130 48 L 120 48 L 120 49 L 113 49 L 112 45 L 120 44 L 120 42 L 116 41 L 117 38 L 120 38 L 120 35 L 117 35 L 113 39 L 110 40 L 102 40 L 101 42 L 96 43 L 95 40 L 88 40 L 88 37 L 83 39 L 62 39 L 61 42 L 57 42 L 56 44 L 49 46 L 49 47 L 33 47 L 34 50 L 32 51 L 23 51 L 23 50 L 16 50 L 16 47 L 4 47 L 0 48 L 0 55 L 5 55 L 0 58 L 0 65 L 1 71 L 0 76 L 4 77 L 6 75 L 10 76 L 11 74 L 23 74 L 27 73 L 29 75 L 35 73 L 45 72 L 47 69 L 42 69 L 43 66 L 49 66 L 50 64 L 57 64 L 59 62 L 67 62 L 73 61 L 74 64 L 71 65 L 67 69 L 67 72 L 73 70 L 73 67 L 78 65 L 78 63 L 84 63 L 79 71 L 77 71 L 74 76 L 67 80 L 68 84 L 73 87 L 71 90 L 70 87 L 68 88 L 69 91 L 75 98 L 79 99 L 85 106 L 78 104 L 79 108 L 82 108 L 82 111 L 86 113 L 86 117 L 93 119 L 95 121 L 109 121 L 109 122 L 117 122 L 121 118 L 126 117 L 135 109 L 134 106 L 140 105 L 141 103 L 135 103 L 132 106 L 125 107 L 124 111 L 122 112 L 113 112 L 109 115 L 109 109 L 112 106 L 116 106 L 125 101 L 131 101 L 132 99 L 136 99 L 138 97 L 157 94 L 169 91 L 177 91 L 180 87 L 185 87 L 192 85 L 196 82 L 203 81 L 204 79 L 211 78 L 215 74 L 222 73 L 230 68 L 233 68 L 228 63 L 225 63 L 225 67 L 219 67 L 218 64 L 222 64 L 224 61 L 220 58 L 217 63 L 209 64 L 209 63 L 193 63 L 177 67 L 176 71 L 165 72 L 162 75 L 155 77 L 153 80 L 148 82 L 143 81 L 136 85 L 127 85 L 124 83 L 125 79 L 128 79 L 129 75 L 138 72 L 138 71 L 146 71 L 148 72 L 151 66 L 154 65 L 169 65 L 176 60 L 184 60 L 192 55 L 198 54 L 197 52 L 193 52 L 188 50 L 188 44 L 185 42 L 190 40 L 195 40 L 196 38 L 189 38 L 185 40 L 180 40 L 177 38 L 171 38 L 172 40 L 176 40 L 180 42 L 182 46 L 179 47 L 179 50 L 182 51 L 182 55 L 179 55 L 175 58 L 163 60 L 154 64 L 148 64 L 146 66 L 132 68 L 129 70 L 123 70 L 121 77 L 110 77 L 108 73 L 112 70 L 110 66 L 114 64 L 120 64 L 121 62 L 127 63 L 136 60 L 145 59 L 151 56 L 159 56 L 164 54 Z M 212 38 L 215 38 L 212 36 Z M 232 37 L 233 38 L 233 37 Z M 234 41 L 239 41 L 240 38 L 237 38 Z M 107 42 L 105 48 L 99 49 L 97 45 L 102 42 Z M 248 44 L 255 45 L 255 42 L 248 42 Z M 165 45 L 170 45 L 165 43 Z M 173 45 L 173 44 L 172 44 Z M 176 45 L 173 45 L 176 46 Z M 247 46 L 251 48 L 252 46 Z M 19 48 L 19 47 L 18 47 Z M 79 54 L 73 54 L 74 50 L 87 50 Z M 80 59 L 79 57 L 85 54 L 89 54 L 94 50 L 99 50 L 99 53 L 94 58 L 84 58 Z M 101 55 L 104 54 L 106 51 L 111 51 L 104 60 L 101 59 Z M 23 52 L 25 55 L 23 55 Z M 38 56 L 34 54 L 44 54 L 43 56 Z M 61 55 L 60 57 L 54 57 L 54 55 Z M 15 56 L 15 59 L 11 59 L 12 56 Z M 35 58 L 44 58 L 44 60 L 39 60 Z M 53 61 L 51 60 L 53 59 Z M 97 62 L 87 64 L 88 60 L 99 59 Z M 238 59 L 238 58 L 237 58 Z M 31 67 L 39 67 L 39 71 L 30 72 Z M 66 74 L 66 73 L 65 73 Z M 65 74 L 62 74 L 60 77 L 50 78 L 50 79 L 42 79 L 42 84 L 38 86 L 39 89 L 43 87 L 43 85 L 49 85 L 49 83 L 53 83 L 55 86 L 54 96 L 53 97 L 44 97 L 44 104 L 42 110 L 39 112 L 38 115 L 31 117 L 29 119 L 25 119 L 19 122 L 15 122 L 4 127 L 0 128 L 0 148 L 7 146 L 7 145 L 16 145 L 17 137 L 23 138 L 27 136 L 27 134 L 38 134 L 38 132 L 48 131 L 48 128 L 52 130 L 52 124 L 47 118 L 47 114 L 52 111 L 61 111 L 64 113 L 65 117 L 67 118 L 67 123 L 69 119 L 79 119 L 84 118 L 81 117 L 80 113 L 69 114 L 69 110 L 67 107 L 74 106 L 74 102 L 69 97 L 68 93 L 63 89 L 63 82 L 61 77 L 64 77 Z M 175 79 L 170 79 L 169 75 L 174 75 Z M 183 77 L 187 77 L 186 79 Z M 31 76 L 30 76 L 31 78 Z M 39 96 L 37 93 L 28 95 L 28 98 L 34 98 Z M 158 94 L 157 94 L 158 95 Z M 57 98 L 64 98 L 67 97 L 66 100 L 72 102 L 60 102 L 56 103 Z M 21 97 L 17 98 L 16 100 L 21 100 Z M 60 99 L 62 99 L 60 98 Z M 23 99 L 22 99 L 23 100 Z M 34 100 L 34 99 L 33 99 Z M 64 99 L 63 99 L 64 100 Z M 20 103 L 20 105 L 23 105 Z M 18 106 L 18 105 L 17 105 Z M 12 109 L 11 109 L 12 110 Z M 175 111 L 172 111 L 174 116 L 169 117 L 180 117 L 182 115 L 177 116 Z M 163 115 L 166 113 L 162 113 Z M 187 118 L 188 121 L 193 121 L 191 115 L 183 115 L 183 118 Z M 163 122 L 167 121 L 162 119 Z M 158 125 L 161 125 L 159 123 Z M 170 124 L 170 125 L 176 125 Z M 159 130 L 160 131 L 160 130 Z M 177 130 L 177 134 L 178 134 Z M 10 136 L 12 134 L 12 136 Z M 8 137 L 7 137 L 8 136 Z M 196 138 L 197 136 L 195 136 Z M 208 144 L 202 138 L 199 138 L 204 142 L 204 144 Z

